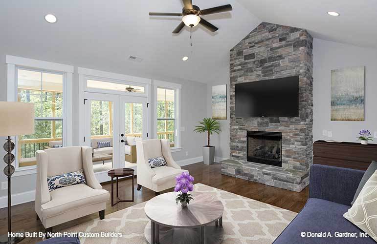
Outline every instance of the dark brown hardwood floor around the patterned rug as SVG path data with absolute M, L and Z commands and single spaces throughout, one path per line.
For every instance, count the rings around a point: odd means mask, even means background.
M 267 186 L 261 183 L 254 183 L 237 179 L 221 174 L 221 165 L 204 165 L 203 163 L 195 163 L 182 167 L 190 171 L 194 176 L 195 183 L 203 183 L 225 191 L 229 191 L 247 198 L 251 198 L 260 202 L 268 203 L 274 206 L 282 207 L 294 212 L 299 212 L 309 195 L 309 187 L 306 187 L 301 192 L 292 192 L 277 187 Z M 130 199 L 132 180 L 119 181 L 119 197 Z M 149 189 L 142 188 L 141 191 L 136 191 L 136 180 L 134 181 L 134 202 L 133 203 L 118 203 L 111 207 L 111 201 L 108 201 L 105 214 L 116 212 L 123 208 L 132 206 L 137 203 L 148 201 L 155 196 L 155 193 Z M 111 184 L 104 183 L 104 189 L 111 191 Z M 164 192 L 172 191 L 172 189 Z M 163 192 L 161 192 L 163 193 Z M 0 234 L 7 232 L 7 209 L 0 209 Z M 91 214 L 77 220 L 60 224 L 54 227 L 54 231 L 61 231 L 67 227 L 76 224 L 84 223 L 92 219 L 98 218 L 98 213 Z M 105 216 L 106 218 L 106 216 Z M 36 219 L 34 210 L 34 202 L 23 203 L 12 207 L 12 230 L 13 231 L 44 231 L 44 227 L 39 220 Z M 36 243 L 40 238 L 26 238 L 22 243 Z

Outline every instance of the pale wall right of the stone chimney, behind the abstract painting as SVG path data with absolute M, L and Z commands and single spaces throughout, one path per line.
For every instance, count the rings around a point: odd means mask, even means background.
M 365 66 L 365 105 L 363 122 L 331 121 L 331 70 Z M 356 142 L 361 129 L 377 131 L 377 50 L 352 45 L 313 41 L 313 141 L 335 140 Z M 322 131 L 332 131 L 333 137 L 322 136 Z M 377 139 L 375 139 L 377 140 Z M 377 143 L 373 142 L 373 143 Z

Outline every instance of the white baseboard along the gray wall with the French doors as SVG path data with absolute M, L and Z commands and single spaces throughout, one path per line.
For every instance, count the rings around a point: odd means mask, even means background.
M 203 162 L 203 157 L 191 158 L 177 161 L 179 166 L 185 166 L 193 163 Z M 12 194 L 12 206 L 21 203 L 28 203 L 35 200 L 35 190 L 25 191 L 21 193 Z M 6 207 L 8 205 L 8 196 L 0 197 L 0 208 Z

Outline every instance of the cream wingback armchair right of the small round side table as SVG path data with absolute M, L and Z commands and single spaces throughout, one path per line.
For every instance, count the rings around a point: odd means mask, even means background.
M 137 190 L 142 186 L 155 191 L 156 195 L 160 191 L 169 189 L 176 185 L 176 176 L 183 170 L 174 161 L 170 151 L 169 140 L 146 140 L 136 142 L 137 155 Z M 164 156 L 168 166 L 151 168 L 148 159 Z

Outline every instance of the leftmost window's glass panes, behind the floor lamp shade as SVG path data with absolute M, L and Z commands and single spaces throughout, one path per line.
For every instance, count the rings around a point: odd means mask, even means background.
M 63 141 L 63 73 L 16 68 L 17 101 L 35 107 L 35 132 L 18 137 L 18 166 L 36 165 L 35 151 Z

